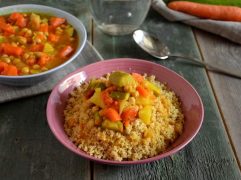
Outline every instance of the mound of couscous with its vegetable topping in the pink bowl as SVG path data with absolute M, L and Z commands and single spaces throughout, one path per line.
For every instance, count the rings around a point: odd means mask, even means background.
M 71 92 L 64 128 L 91 156 L 132 161 L 165 151 L 183 131 L 181 103 L 154 76 L 115 71 Z

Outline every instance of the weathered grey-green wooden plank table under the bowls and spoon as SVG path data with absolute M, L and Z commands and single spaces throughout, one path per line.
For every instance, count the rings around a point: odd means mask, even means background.
M 20 3 L 1 1 L 0 6 Z M 49 93 L 0 104 L 0 179 L 241 179 L 241 80 L 174 60 L 157 61 L 137 47 L 131 35 L 112 37 L 93 23 L 84 0 L 26 1 L 54 6 L 80 18 L 88 39 L 105 59 L 131 57 L 160 63 L 186 78 L 205 108 L 203 126 L 183 150 L 148 164 L 109 166 L 64 148 L 46 122 Z M 172 52 L 241 70 L 241 46 L 216 35 L 165 21 L 152 9 L 142 28 L 158 35 Z

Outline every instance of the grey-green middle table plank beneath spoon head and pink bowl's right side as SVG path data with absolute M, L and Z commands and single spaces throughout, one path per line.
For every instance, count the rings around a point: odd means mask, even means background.
M 142 28 L 166 41 L 175 53 L 200 58 L 189 27 L 168 23 L 151 11 Z M 240 179 L 240 171 L 222 124 L 205 70 L 176 61 L 156 61 L 131 40 L 131 35 L 111 37 L 98 29 L 94 45 L 104 58 L 134 57 L 154 61 L 184 76 L 200 94 L 205 119 L 197 137 L 182 151 L 156 162 L 136 166 L 94 164 L 94 179 Z

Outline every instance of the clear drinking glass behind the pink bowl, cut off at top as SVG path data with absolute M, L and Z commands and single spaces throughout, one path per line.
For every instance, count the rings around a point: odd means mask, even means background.
M 137 29 L 150 9 L 151 0 L 89 0 L 97 26 L 110 35 L 126 35 Z

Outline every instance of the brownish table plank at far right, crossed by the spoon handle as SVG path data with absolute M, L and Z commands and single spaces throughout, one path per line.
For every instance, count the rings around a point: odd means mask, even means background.
M 221 37 L 196 31 L 205 61 L 230 70 L 241 71 L 241 46 Z M 222 111 L 224 123 L 241 163 L 241 80 L 210 72 L 210 80 Z

